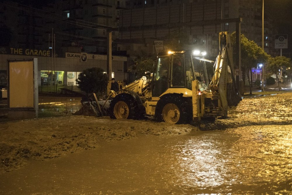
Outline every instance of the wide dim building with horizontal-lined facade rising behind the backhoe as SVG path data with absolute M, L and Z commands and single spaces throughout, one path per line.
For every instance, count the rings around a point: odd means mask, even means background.
M 262 46 L 262 0 L 132 0 L 128 8 L 120 16 L 119 39 L 164 40 L 183 32 L 191 45 L 199 44 L 215 58 L 218 33 L 234 32 L 236 23 L 229 19 L 241 17 L 241 33 Z M 268 37 L 274 31 L 272 23 L 265 27 Z

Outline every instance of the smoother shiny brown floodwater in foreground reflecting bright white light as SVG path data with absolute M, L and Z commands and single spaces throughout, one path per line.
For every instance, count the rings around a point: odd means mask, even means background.
M 141 135 L 1 175 L 1 194 L 291 194 L 292 125 Z

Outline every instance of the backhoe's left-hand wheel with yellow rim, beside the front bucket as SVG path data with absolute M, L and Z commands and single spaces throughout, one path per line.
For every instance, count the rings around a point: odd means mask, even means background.
M 137 119 L 139 113 L 137 102 L 130 94 L 118 94 L 109 104 L 109 116 L 112 119 Z

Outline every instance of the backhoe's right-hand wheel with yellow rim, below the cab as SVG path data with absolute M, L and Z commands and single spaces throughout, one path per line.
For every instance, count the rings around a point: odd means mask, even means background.
M 192 117 L 192 105 L 186 98 L 178 95 L 168 95 L 157 103 L 157 119 L 160 122 L 183 124 Z

